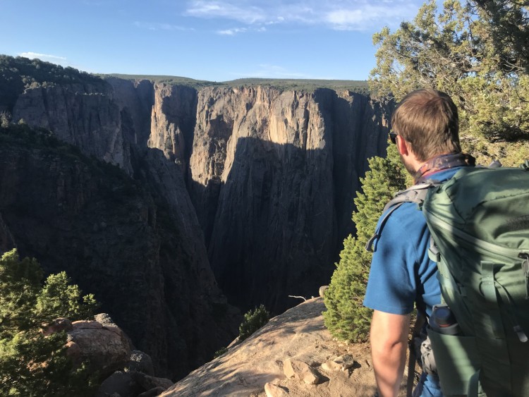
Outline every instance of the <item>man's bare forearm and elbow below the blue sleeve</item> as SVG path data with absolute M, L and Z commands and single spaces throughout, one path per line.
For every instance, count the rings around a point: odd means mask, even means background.
M 399 393 L 406 366 L 410 319 L 410 314 L 373 312 L 371 354 L 381 397 L 393 397 Z

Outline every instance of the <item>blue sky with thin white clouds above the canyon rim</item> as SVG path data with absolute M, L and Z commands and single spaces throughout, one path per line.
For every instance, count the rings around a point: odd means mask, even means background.
M 418 0 L 0 0 L 0 54 L 90 73 L 366 80 Z

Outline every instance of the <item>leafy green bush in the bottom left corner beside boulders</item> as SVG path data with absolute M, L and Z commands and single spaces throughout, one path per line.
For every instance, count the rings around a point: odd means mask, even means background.
M 35 259 L 16 250 L 0 259 L 0 394 L 2 396 L 85 396 L 94 379 L 85 365 L 66 356 L 66 333 L 45 336 L 42 327 L 58 317 L 92 317 L 93 295 L 81 297 L 66 273 L 49 276 Z

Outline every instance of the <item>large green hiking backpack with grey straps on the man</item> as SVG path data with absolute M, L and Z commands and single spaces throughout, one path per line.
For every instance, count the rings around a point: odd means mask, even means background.
M 428 329 L 444 395 L 529 396 L 529 161 L 463 167 L 397 193 L 366 248 L 403 202 L 425 215 L 442 301 L 458 322 L 456 335 Z

